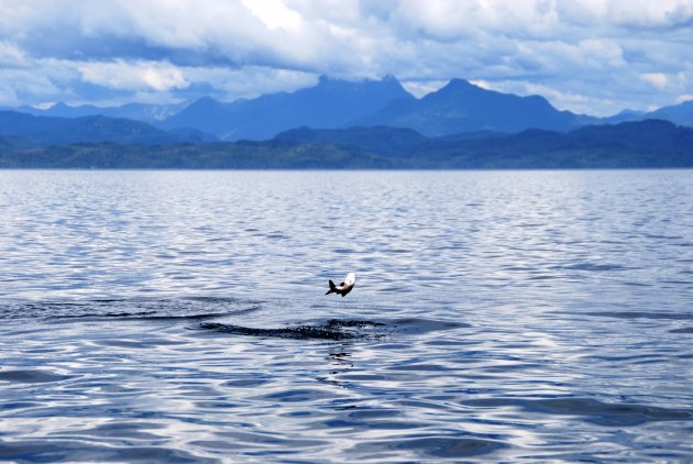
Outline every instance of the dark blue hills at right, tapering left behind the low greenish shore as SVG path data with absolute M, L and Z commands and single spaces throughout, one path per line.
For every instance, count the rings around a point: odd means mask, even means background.
M 355 148 L 416 167 L 693 166 L 693 129 L 661 120 L 587 125 L 566 133 L 530 129 L 515 134 L 487 132 L 442 137 L 385 126 L 299 128 L 278 134 L 276 140 Z

